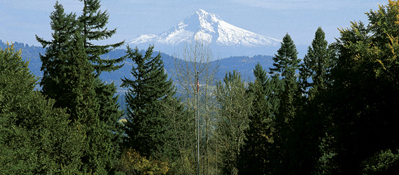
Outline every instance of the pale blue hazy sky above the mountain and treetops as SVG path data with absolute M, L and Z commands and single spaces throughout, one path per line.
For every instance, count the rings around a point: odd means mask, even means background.
M 55 0 L 0 0 L 0 39 L 39 46 L 35 34 L 51 39 L 50 13 Z M 83 3 L 59 0 L 65 12 L 80 14 Z M 310 45 L 321 26 L 331 43 L 337 28 L 350 21 L 367 23 L 365 12 L 378 10 L 387 0 L 103 0 L 109 29 L 117 34 L 107 43 L 130 40 L 140 34 L 160 34 L 202 8 L 224 21 L 264 36 L 281 39 L 287 32 L 296 45 Z

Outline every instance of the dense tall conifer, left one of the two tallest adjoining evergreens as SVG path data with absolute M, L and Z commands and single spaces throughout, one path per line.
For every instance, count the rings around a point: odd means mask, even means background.
M 87 99 L 83 98 L 94 96 L 94 69 L 84 52 L 74 14 L 65 15 L 63 6 L 58 2 L 54 8 L 56 10 L 50 16 L 53 40 L 47 41 L 36 36 L 43 48 L 47 47 L 45 55 L 41 55 L 42 92 L 56 100 L 57 107 L 67 108 L 72 120 L 86 120 L 80 118 L 78 113 L 83 111 L 81 105 L 87 104 Z

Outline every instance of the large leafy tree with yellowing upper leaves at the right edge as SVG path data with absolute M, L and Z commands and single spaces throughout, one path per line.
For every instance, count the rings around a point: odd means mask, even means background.
M 369 25 L 352 23 L 338 39 L 327 108 L 334 124 L 338 170 L 345 174 L 360 173 L 365 160 L 398 148 L 398 9 L 398 1 L 389 1 L 367 13 Z M 392 171 L 397 170 L 385 173 Z

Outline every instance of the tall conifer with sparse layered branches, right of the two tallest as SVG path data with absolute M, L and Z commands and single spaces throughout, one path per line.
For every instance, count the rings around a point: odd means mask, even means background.
M 105 148 L 111 148 L 107 151 L 108 156 L 104 156 L 103 161 L 107 162 L 107 166 L 113 167 L 118 156 L 118 149 L 121 143 L 122 129 L 118 124 L 118 120 L 123 113 L 119 109 L 118 95 L 116 94 L 116 86 L 114 83 L 107 84 L 100 80 L 99 75 L 103 71 L 115 71 L 120 69 L 123 65 L 120 64 L 125 58 L 108 58 L 104 59 L 100 56 L 109 53 L 109 51 L 120 47 L 125 41 L 107 44 L 96 45 L 93 41 L 105 40 L 111 38 L 116 34 L 116 29 L 108 30 L 106 25 L 108 23 L 109 14 L 107 10 L 102 12 L 100 10 L 100 0 L 80 0 L 83 1 L 82 14 L 78 16 L 77 22 L 80 24 L 80 34 L 83 38 L 83 47 L 87 58 L 94 67 L 96 80 L 94 82 L 94 89 L 96 91 L 96 100 L 99 102 L 100 111 L 98 117 L 100 125 L 107 141 L 103 141 Z

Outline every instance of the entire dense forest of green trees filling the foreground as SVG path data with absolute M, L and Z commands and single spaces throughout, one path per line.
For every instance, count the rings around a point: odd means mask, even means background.
M 176 59 L 96 45 L 116 33 L 100 0 L 50 14 L 41 79 L 19 43 L 0 49 L 0 174 L 399 174 L 399 2 L 350 22 L 336 42 L 322 28 L 304 58 L 289 34 L 272 67 L 217 80 L 211 48 Z M 348 21 L 349 23 L 349 21 Z M 116 84 L 100 78 L 129 60 Z M 38 85 L 41 89 L 35 89 Z

